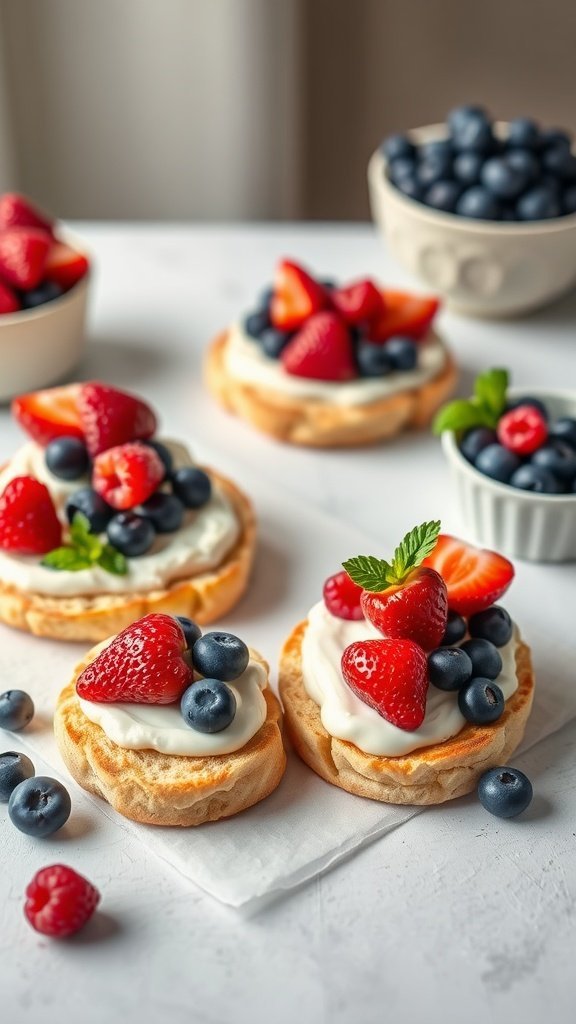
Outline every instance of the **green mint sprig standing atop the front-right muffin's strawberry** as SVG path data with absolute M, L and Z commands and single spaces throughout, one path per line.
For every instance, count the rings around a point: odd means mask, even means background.
M 342 562 L 354 583 L 372 593 L 381 593 L 388 587 L 404 583 L 412 569 L 417 568 L 434 551 L 440 534 L 440 520 L 414 526 L 394 553 L 392 562 L 373 555 L 357 555 Z

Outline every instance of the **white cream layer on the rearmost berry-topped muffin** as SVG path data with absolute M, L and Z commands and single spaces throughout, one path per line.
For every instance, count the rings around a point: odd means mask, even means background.
M 446 351 L 440 338 L 429 332 L 418 347 L 415 370 L 345 382 L 311 380 L 287 374 L 278 359 L 270 358 L 259 343 L 250 338 L 240 324 L 235 324 L 229 332 L 225 360 L 231 376 L 246 384 L 295 398 L 319 398 L 335 406 L 363 406 L 419 387 L 437 377 L 446 364 Z

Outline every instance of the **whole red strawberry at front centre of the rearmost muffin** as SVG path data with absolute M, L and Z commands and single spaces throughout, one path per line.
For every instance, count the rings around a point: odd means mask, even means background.
M 349 331 L 333 312 L 311 316 L 280 358 L 286 373 L 294 377 L 348 381 L 358 376 Z

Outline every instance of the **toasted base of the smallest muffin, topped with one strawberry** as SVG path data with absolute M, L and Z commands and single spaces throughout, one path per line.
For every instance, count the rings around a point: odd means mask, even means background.
M 257 804 L 276 790 L 285 768 L 282 713 L 270 686 L 264 724 L 241 750 L 218 757 L 177 757 L 129 751 L 113 743 L 82 712 L 76 680 L 95 656 L 89 651 L 63 690 L 54 713 L 56 742 L 71 775 L 132 821 L 199 825 Z M 269 667 L 257 651 L 250 656 Z

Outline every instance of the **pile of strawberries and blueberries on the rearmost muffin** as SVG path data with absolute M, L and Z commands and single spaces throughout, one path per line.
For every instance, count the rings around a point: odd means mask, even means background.
M 438 308 L 436 298 L 369 278 L 338 287 L 282 260 L 244 330 L 285 373 L 344 382 L 415 370 Z

